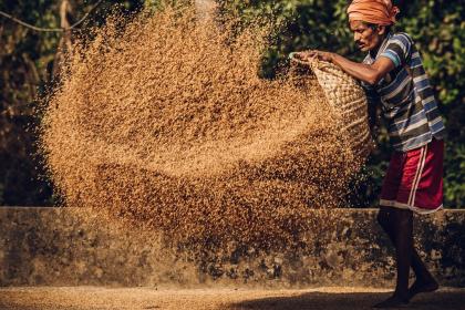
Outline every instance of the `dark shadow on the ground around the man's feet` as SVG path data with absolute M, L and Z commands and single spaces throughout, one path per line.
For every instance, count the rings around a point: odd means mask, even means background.
M 390 293 L 326 293 L 309 292 L 294 297 L 272 297 L 246 300 L 230 306 L 230 310 L 269 309 L 269 310 L 317 310 L 317 309 L 372 309 L 372 306 L 390 297 Z M 465 309 L 463 291 L 440 291 L 415 297 L 401 309 Z

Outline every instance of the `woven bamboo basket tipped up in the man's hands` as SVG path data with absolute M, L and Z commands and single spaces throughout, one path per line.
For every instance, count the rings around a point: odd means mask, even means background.
M 360 84 L 338 65 L 312 59 L 293 62 L 310 68 L 334 112 L 341 130 L 356 157 L 365 159 L 373 148 L 370 133 L 366 95 Z

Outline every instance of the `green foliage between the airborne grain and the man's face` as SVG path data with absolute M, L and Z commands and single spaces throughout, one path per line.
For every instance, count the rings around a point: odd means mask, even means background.
M 291 51 L 320 49 L 340 54 L 355 52 L 347 27 L 345 0 L 218 2 L 220 11 L 239 17 L 245 23 L 261 19 L 276 21 L 278 32 L 265 55 L 264 75 L 267 78 L 275 75 L 277 64 L 286 61 Z

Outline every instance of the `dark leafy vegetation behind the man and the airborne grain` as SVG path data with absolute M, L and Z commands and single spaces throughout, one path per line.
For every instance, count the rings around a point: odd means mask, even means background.
M 0 10 L 42 28 L 60 28 L 63 0 L 0 0 Z M 79 20 L 96 1 L 68 0 L 66 19 Z M 158 0 L 103 1 L 80 27 L 104 23 L 115 8 L 126 14 Z M 278 64 L 291 51 L 320 49 L 361 60 L 352 42 L 345 16 L 347 0 L 245 1 L 220 0 L 220 11 L 240 22 L 272 17 L 283 27 L 264 55 L 261 74 L 272 79 Z M 465 207 L 465 8 L 459 0 L 394 1 L 401 9 L 396 31 L 409 32 L 422 52 L 426 71 L 440 101 L 448 137 L 445 157 L 445 206 Z M 71 32 L 78 35 L 79 29 Z M 37 97 L 53 79 L 61 32 L 38 32 L 0 17 L 0 205 L 44 206 L 56 197 L 43 176 L 40 156 L 34 155 L 39 121 Z M 363 172 L 363 182 L 351 194 L 354 206 L 375 206 L 390 147 L 385 131 L 378 135 L 378 149 Z

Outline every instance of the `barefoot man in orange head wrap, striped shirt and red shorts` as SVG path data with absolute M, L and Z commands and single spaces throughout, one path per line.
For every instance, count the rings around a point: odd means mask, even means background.
M 442 208 L 445 128 L 412 39 L 391 32 L 397 13 L 391 0 L 354 0 L 349 6 L 354 41 L 368 52 L 363 63 L 321 51 L 298 54 L 301 60 L 318 56 L 339 65 L 361 81 L 370 105 L 381 102 L 394 152 L 378 221 L 395 246 L 397 278 L 393 296 L 375 308 L 403 306 L 416 293 L 438 287 L 414 249 L 413 211 L 428 214 Z M 409 288 L 410 267 L 416 280 Z

